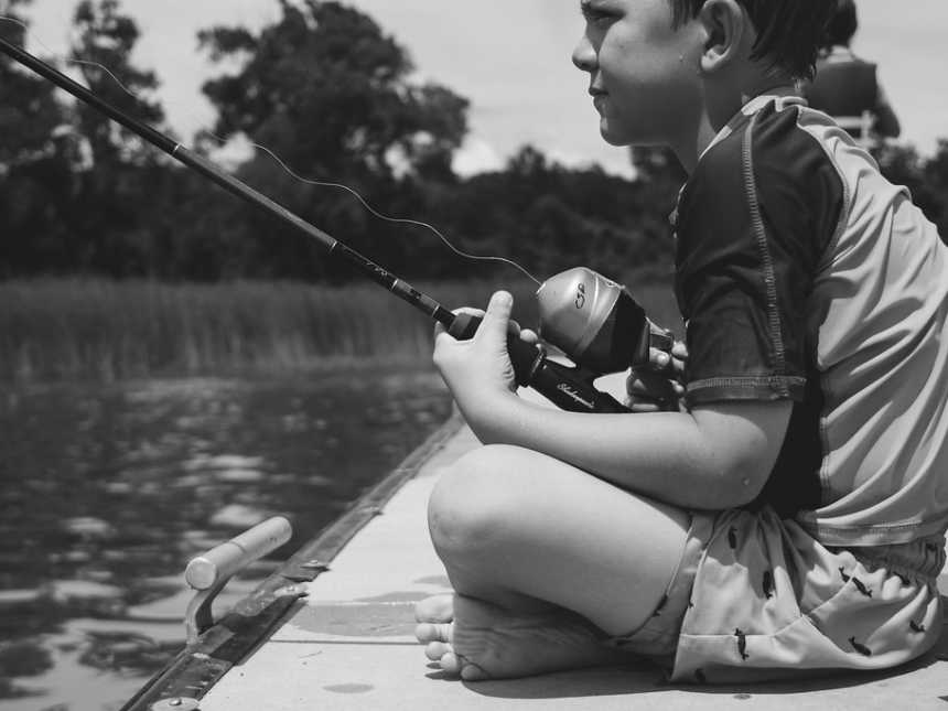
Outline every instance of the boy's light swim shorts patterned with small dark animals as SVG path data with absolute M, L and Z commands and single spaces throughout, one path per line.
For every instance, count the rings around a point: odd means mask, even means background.
M 941 633 L 945 537 L 829 548 L 771 508 L 696 514 L 651 620 L 613 644 L 670 668 L 672 682 L 886 669 Z

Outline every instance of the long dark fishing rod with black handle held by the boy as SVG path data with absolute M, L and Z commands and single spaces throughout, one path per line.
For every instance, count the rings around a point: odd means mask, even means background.
M 186 168 L 203 175 L 238 198 L 257 206 L 293 229 L 315 239 L 330 255 L 354 266 L 364 276 L 384 287 L 390 293 L 418 309 L 428 317 L 443 324 L 448 332 L 455 338 L 467 340 L 476 332 L 477 326 L 481 323 L 480 316 L 454 314 L 451 310 L 445 309 L 438 301 L 419 291 L 403 279 L 399 279 L 367 257 L 331 237 L 322 229 L 311 225 L 279 203 L 270 200 L 234 175 L 225 172 L 222 168 L 206 158 L 188 150 L 186 147 L 164 133 L 161 133 L 147 123 L 139 121 L 111 106 L 83 85 L 74 82 L 55 67 L 46 64 L 22 47 L 11 44 L 7 40 L 0 37 L 0 52 L 39 74 L 44 79 L 51 82 L 84 104 L 91 106 L 146 142 L 169 154 Z M 582 284 L 580 284 L 580 288 L 582 288 Z M 560 293 L 558 290 L 548 290 L 548 293 L 552 294 L 554 292 L 557 294 Z M 626 301 L 631 302 L 631 298 Z M 625 302 L 621 301 L 620 304 L 622 303 Z M 634 302 L 632 303 L 634 304 Z M 634 308 L 640 311 L 640 308 L 638 308 L 637 304 L 634 304 Z M 626 309 L 625 311 L 627 312 L 628 310 Z M 644 312 L 642 312 L 640 317 L 638 317 L 638 315 L 639 314 L 636 312 L 634 320 L 640 324 L 645 319 Z M 612 314 L 610 314 L 610 324 L 612 324 L 614 320 L 615 319 Z M 625 321 L 623 320 L 623 322 Z M 647 320 L 645 320 L 645 323 L 647 324 Z M 572 333 L 567 335 L 571 336 Z M 638 334 L 636 334 L 636 337 L 637 336 Z M 647 342 L 648 338 L 646 336 L 645 343 L 647 344 Z M 582 367 L 581 365 L 570 367 L 550 360 L 547 357 L 546 351 L 541 346 L 529 344 L 518 336 L 508 337 L 507 349 L 510 356 L 510 362 L 514 366 L 517 384 L 524 387 L 534 388 L 563 410 L 575 412 L 629 411 L 628 408 L 623 406 L 615 398 L 597 390 L 593 386 L 593 379 L 602 375 L 603 370 L 595 371 L 590 368 Z M 570 355 L 569 349 L 565 351 L 567 355 Z

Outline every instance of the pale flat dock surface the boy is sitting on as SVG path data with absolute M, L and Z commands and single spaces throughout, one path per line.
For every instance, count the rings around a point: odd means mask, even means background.
M 647 661 L 508 681 L 445 678 L 413 635 L 414 603 L 450 590 L 429 540 L 425 507 L 443 467 L 476 445 L 461 427 L 435 448 L 331 569 L 308 583 L 308 596 L 271 638 L 201 700 L 201 709 L 948 711 L 948 627 L 933 651 L 906 667 L 809 681 L 669 686 Z M 948 573 L 939 589 L 948 594 Z

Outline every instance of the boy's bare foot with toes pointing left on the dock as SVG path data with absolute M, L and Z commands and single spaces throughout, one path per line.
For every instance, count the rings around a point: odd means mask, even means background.
M 627 660 L 570 612 L 510 613 L 464 595 L 418 603 L 416 629 L 425 655 L 465 681 L 527 677 Z

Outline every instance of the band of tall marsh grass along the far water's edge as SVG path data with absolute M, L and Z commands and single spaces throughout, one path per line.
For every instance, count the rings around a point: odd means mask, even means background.
M 448 308 L 483 305 L 488 282 L 416 284 Z M 505 283 L 536 323 L 534 284 Z M 677 322 L 666 287 L 634 289 Z M 36 383 L 428 367 L 432 325 L 375 284 L 169 284 L 49 279 L 0 283 L 0 380 Z

